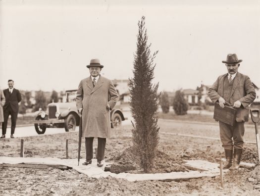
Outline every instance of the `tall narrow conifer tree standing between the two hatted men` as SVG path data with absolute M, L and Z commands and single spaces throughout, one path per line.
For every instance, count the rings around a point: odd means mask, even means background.
M 132 140 L 134 153 L 140 158 L 141 167 L 145 172 L 151 171 L 159 142 L 157 95 L 158 83 L 154 79 L 154 59 L 158 51 L 150 54 L 147 44 L 145 17 L 138 22 L 137 50 L 134 54 L 133 78 L 129 82 L 130 108 L 134 118 L 132 122 Z

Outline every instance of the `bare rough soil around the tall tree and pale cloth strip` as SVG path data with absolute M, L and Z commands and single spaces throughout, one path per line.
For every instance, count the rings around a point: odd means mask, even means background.
M 180 165 L 185 159 L 202 159 L 216 162 L 224 157 L 220 141 L 171 135 L 170 133 L 200 135 L 219 138 L 218 126 L 208 124 L 178 123 L 159 120 L 160 144 L 155 172 L 189 171 Z M 105 159 L 114 162 L 116 173 L 128 171 L 142 173 L 131 152 L 131 126 L 113 129 L 107 140 Z M 246 141 L 255 141 L 254 128 L 247 127 Z M 167 134 L 168 133 L 168 134 Z M 24 138 L 25 157 L 65 158 L 65 140 L 69 139 L 69 157 L 77 158 L 78 133 L 64 133 Z M 82 158 L 85 147 L 82 140 Z M 94 142 L 94 147 L 97 141 Z M 245 144 L 245 160 L 257 161 L 256 145 Z M 20 139 L 0 140 L 0 156 L 18 157 Z M 254 182 L 250 182 L 252 179 Z M 240 168 L 224 175 L 224 189 L 219 177 L 186 181 L 128 182 L 122 179 L 92 179 L 75 170 L 30 169 L 0 167 L 0 195 L 259 195 L 260 167 Z

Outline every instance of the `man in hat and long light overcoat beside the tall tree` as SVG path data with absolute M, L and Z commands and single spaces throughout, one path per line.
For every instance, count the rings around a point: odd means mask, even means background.
M 82 114 L 82 137 L 85 138 L 86 162 L 92 163 L 93 140 L 98 138 L 98 166 L 104 164 L 106 138 L 110 137 L 110 110 L 118 98 L 117 91 L 111 80 L 100 75 L 104 66 L 99 59 L 91 59 L 90 76 L 80 81 L 76 94 L 76 104 Z

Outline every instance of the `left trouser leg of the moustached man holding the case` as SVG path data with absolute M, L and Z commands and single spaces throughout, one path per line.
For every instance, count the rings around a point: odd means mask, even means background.
M 219 130 L 222 147 L 233 150 L 233 127 L 219 121 Z

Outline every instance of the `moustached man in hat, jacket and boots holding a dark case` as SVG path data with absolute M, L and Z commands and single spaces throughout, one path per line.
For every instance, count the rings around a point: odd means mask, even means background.
M 239 168 L 244 145 L 244 123 L 248 121 L 249 105 L 256 98 L 256 91 L 250 78 L 238 72 L 240 62 L 242 60 L 238 60 L 236 54 L 228 54 L 226 61 L 222 61 L 226 64 L 228 73 L 219 76 L 208 89 L 208 96 L 213 102 L 218 101 L 222 108 L 226 102 L 229 102 L 237 109 L 236 122 L 233 127 L 219 121 L 220 139 L 227 160 L 223 168 L 229 168 L 229 170 Z

